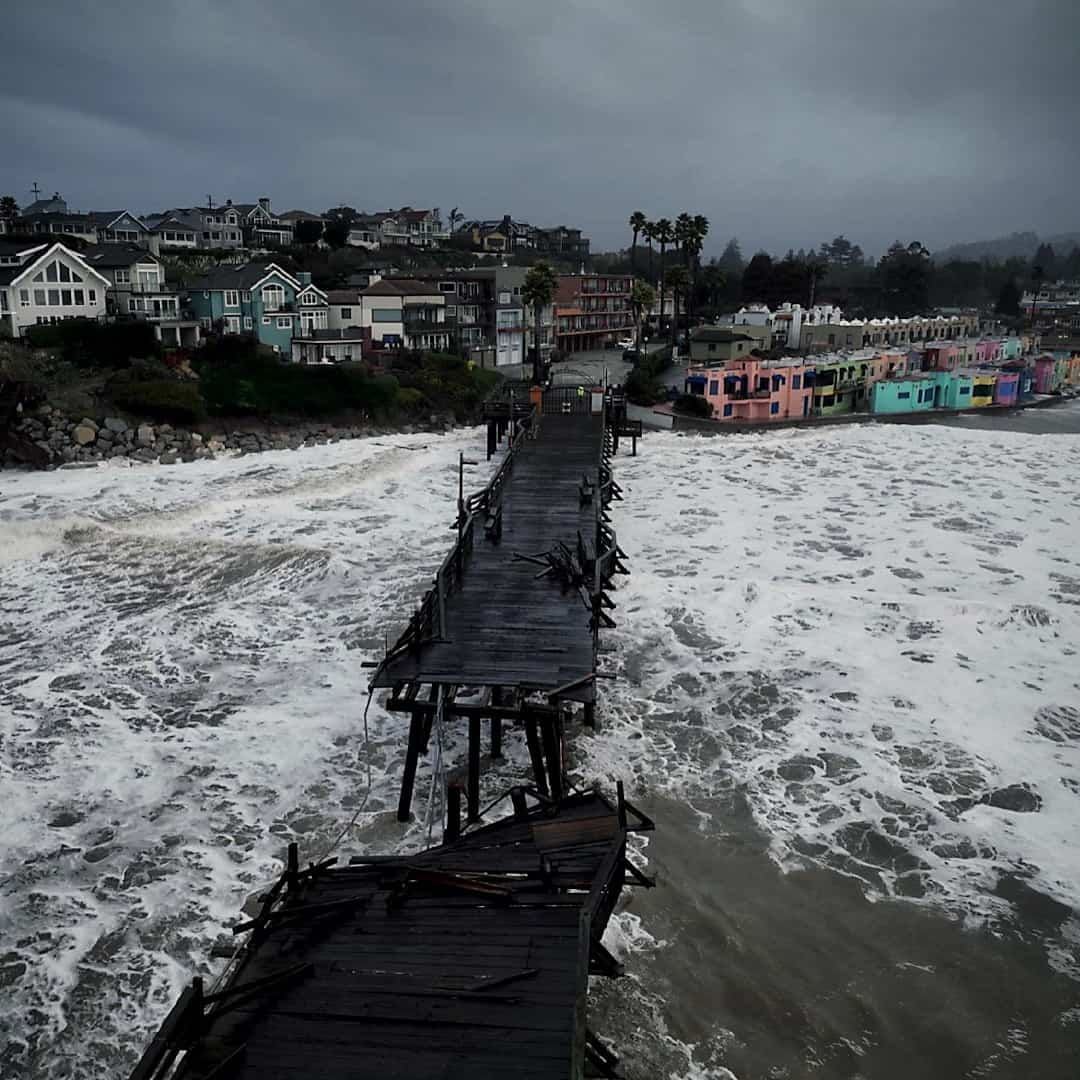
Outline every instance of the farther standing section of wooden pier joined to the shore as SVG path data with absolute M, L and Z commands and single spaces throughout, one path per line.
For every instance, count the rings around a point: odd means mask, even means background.
M 563 729 L 580 707 L 595 725 L 599 631 L 615 625 L 616 575 L 626 557 L 608 519 L 621 497 L 610 469 L 620 435 L 636 440 L 610 397 L 558 388 L 536 403 L 496 403 L 488 451 L 509 446 L 490 483 L 459 498 L 457 542 L 431 590 L 372 678 L 386 707 L 409 716 L 397 815 L 407 821 L 418 759 L 436 725 L 469 724 L 469 820 L 480 816 L 483 725 L 492 758 L 519 723 L 537 788 L 558 799 Z

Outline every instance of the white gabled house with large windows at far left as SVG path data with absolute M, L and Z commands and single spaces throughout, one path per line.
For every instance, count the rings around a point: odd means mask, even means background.
M 0 333 L 67 319 L 105 318 L 109 279 L 60 243 L 0 243 Z

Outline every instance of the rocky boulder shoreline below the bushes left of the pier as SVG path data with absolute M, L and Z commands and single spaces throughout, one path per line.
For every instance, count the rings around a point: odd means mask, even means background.
M 23 417 L 11 429 L 32 442 L 50 457 L 46 468 L 93 464 L 118 458 L 173 465 L 186 461 L 212 460 L 220 454 L 259 454 L 264 450 L 298 450 L 348 438 L 416 431 L 433 433 L 456 427 L 450 417 L 431 416 L 427 423 L 397 427 L 378 424 L 335 426 L 326 422 L 268 426 L 237 431 L 192 431 L 170 423 L 135 423 L 121 417 L 72 420 L 53 409 Z M 13 450 L 0 455 L 0 468 L 27 468 Z

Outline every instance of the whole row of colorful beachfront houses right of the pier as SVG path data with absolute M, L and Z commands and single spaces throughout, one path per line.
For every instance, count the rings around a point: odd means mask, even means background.
M 918 349 L 861 349 L 691 365 L 685 391 L 716 420 L 797 420 L 845 413 L 896 415 L 1015 406 L 1080 389 L 1080 355 L 1024 352 L 1018 337 L 930 341 Z

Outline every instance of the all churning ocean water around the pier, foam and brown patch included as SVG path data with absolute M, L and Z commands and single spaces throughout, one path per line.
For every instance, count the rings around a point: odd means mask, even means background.
M 426 842 L 361 662 L 482 442 L 0 476 L 0 1077 L 122 1076 L 369 780 L 342 849 Z M 632 575 L 571 755 L 658 819 L 594 993 L 627 1075 L 1075 1076 L 1080 437 L 662 433 L 616 470 Z

